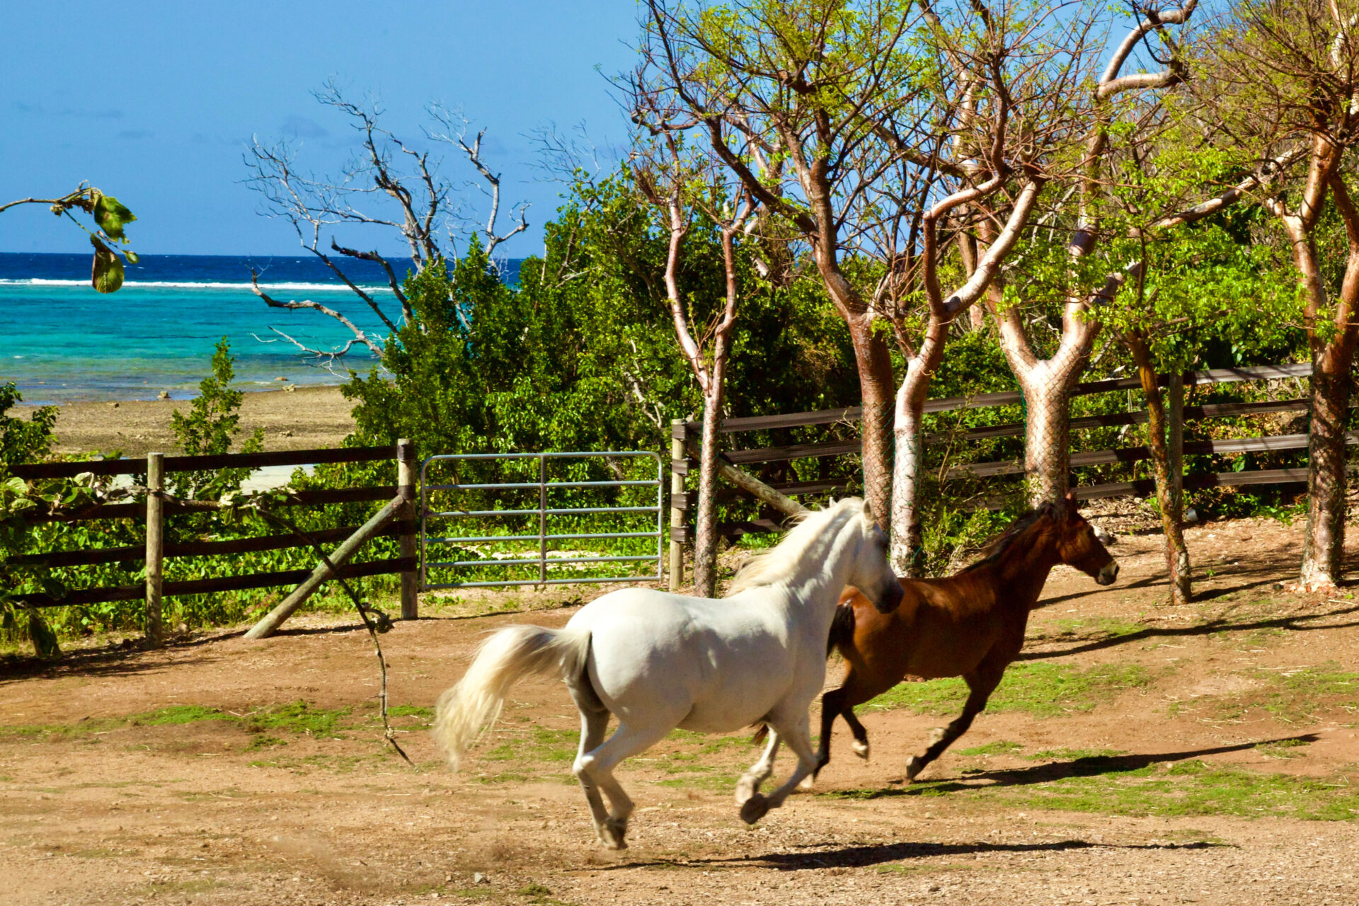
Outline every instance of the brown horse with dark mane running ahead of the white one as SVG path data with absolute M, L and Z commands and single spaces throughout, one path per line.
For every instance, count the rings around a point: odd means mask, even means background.
M 829 653 L 839 649 L 849 671 L 839 689 L 821 700 L 821 751 L 817 770 L 830 761 L 830 727 L 840 714 L 853 732 L 853 751 L 868 757 L 868 735 L 853 706 L 881 695 L 906 674 L 924 679 L 962 676 L 968 702 L 962 714 L 931 732 L 930 747 L 906 762 L 915 780 L 985 706 L 1010 662 L 1023 648 L 1029 611 L 1048 573 L 1067 564 L 1109 585 L 1118 576 L 1094 528 L 1072 494 L 1021 516 L 988 547 L 985 556 L 947 579 L 902 579 L 905 598 L 881 614 L 856 588 L 845 588 L 830 626 Z

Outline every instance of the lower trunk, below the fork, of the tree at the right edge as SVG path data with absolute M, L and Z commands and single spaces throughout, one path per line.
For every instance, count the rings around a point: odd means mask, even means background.
M 1301 583 L 1330 588 L 1341 575 L 1345 546 L 1345 422 L 1349 416 L 1351 356 L 1329 344 L 1311 365 L 1311 420 L 1307 437 L 1307 538 Z M 1343 359 L 1343 361 L 1337 361 Z

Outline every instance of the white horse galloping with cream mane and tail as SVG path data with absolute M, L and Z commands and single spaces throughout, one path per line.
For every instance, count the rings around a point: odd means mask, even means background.
M 723 733 L 764 723 L 772 738 L 737 785 L 741 818 L 753 825 L 817 765 L 807 708 L 825 682 L 826 637 L 845 585 L 863 590 L 883 613 L 901 602 L 887 538 L 858 497 L 803 518 L 777 547 L 746 564 L 722 600 L 626 588 L 590 602 L 564 629 L 510 626 L 492 634 L 462 681 L 439 697 L 435 740 L 457 770 L 511 683 L 560 672 L 580 710 L 573 770 L 595 837 L 624 849 L 632 800 L 613 776 L 618 762 L 675 727 Z M 609 714 L 617 714 L 618 728 L 606 742 Z M 780 740 L 798 755 L 798 769 L 765 797 L 760 784 L 773 773 Z

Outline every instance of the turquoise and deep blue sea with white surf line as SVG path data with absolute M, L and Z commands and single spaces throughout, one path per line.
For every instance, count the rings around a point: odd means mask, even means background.
M 376 265 L 345 262 L 393 321 L 400 314 Z M 357 265 L 357 266 L 355 266 Z M 506 278 L 516 276 L 508 262 Z M 321 261 L 284 257 L 141 255 L 122 289 L 90 287 L 88 254 L 0 253 L 0 383 L 15 382 L 26 403 L 76 399 L 154 399 L 197 395 L 213 344 L 236 356 L 236 386 L 342 383 L 345 368 L 374 364 L 361 346 L 326 369 L 279 337 L 276 327 L 313 348 L 342 345 L 349 331 L 317 311 L 269 308 L 250 291 L 250 269 L 279 300 L 311 299 L 386 338 L 374 312 Z

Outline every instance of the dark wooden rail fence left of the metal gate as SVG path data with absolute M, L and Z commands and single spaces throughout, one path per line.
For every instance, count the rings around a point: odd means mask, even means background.
M 163 581 L 162 564 L 166 557 L 211 557 L 241 554 L 265 550 L 285 550 L 308 547 L 308 542 L 296 534 L 284 532 L 260 538 L 235 538 L 228 541 L 193 541 L 182 543 L 164 542 L 164 520 L 169 516 L 201 512 L 192 501 L 179 503 L 164 496 L 164 475 L 182 471 L 209 471 L 217 469 L 262 469 L 266 466 L 306 466 L 318 463 L 397 460 L 395 485 L 368 485 L 357 488 L 292 490 L 285 497 L 272 501 L 273 507 L 307 507 L 322 504 L 347 504 L 368 501 L 391 501 L 401 499 L 394 519 L 376 532 L 366 537 L 394 537 L 400 541 L 401 556 L 387 560 L 348 564 L 338 566 L 338 576 L 360 577 L 390 573 L 401 575 L 401 615 L 417 615 L 416 591 L 419 588 L 419 564 L 416 560 L 417 523 L 414 519 L 416 469 L 414 450 L 409 441 L 393 447 L 348 447 L 338 450 L 291 450 L 284 452 L 223 454 L 215 456 L 164 456 L 148 454 L 141 459 L 95 459 L 84 462 L 50 462 L 15 466 L 11 474 L 26 481 L 43 478 L 75 478 L 82 473 L 95 475 L 145 475 L 145 503 L 96 504 L 72 513 L 38 516 L 34 523 L 43 522 L 84 522 L 101 519 L 145 519 L 145 545 L 125 547 L 102 547 L 91 550 L 63 550 L 45 554 L 29 554 L 11 558 L 14 565 L 24 566 L 80 566 L 92 564 L 118 564 L 145 561 L 145 581 L 136 585 L 110 585 L 102 588 L 82 588 L 53 598 L 46 594 L 16 595 L 15 599 L 30 607 L 64 607 L 92 604 L 110 600 L 147 600 L 147 634 L 154 641 L 160 637 L 160 600 L 182 595 L 207 592 L 241 591 L 246 588 L 273 588 L 298 585 L 314 576 L 314 569 L 287 569 L 276 572 L 255 572 L 241 576 L 219 576 L 190 581 Z M 361 526 L 338 526 L 307 534 L 319 543 L 345 541 L 356 535 Z M 332 575 L 332 573 L 326 573 Z M 299 602 L 300 603 L 300 602 Z

